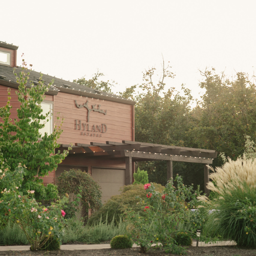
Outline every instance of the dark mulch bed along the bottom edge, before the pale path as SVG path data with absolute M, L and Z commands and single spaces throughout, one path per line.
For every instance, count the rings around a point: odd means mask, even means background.
M 151 249 L 148 253 L 140 253 L 139 248 L 131 249 L 100 249 L 100 250 L 60 250 L 60 251 L 0 251 L 0 255 L 66 255 L 66 256 L 78 256 L 78 255 L 175 255 L 165 253 L 160 249 Z M 187 255 L 200 255 L 200 256 L 255 256 L 256 249 L 243 249 L 236 246 L 209 246 L 209 247 L 187 247 Z

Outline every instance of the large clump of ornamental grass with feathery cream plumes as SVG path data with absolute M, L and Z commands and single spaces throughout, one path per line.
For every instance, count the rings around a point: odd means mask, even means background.
M 210 219 L 216 234 L 236 241 L 238 246 L 256 245 L 255 169 L 255 159 L 229 159 L 210 174 L 214 183 L 207 185 L 218 194 L 214 201 L 208 201 L 212 208 L 217 209 Z M 208 200 L 206 197 L 199 199 Z

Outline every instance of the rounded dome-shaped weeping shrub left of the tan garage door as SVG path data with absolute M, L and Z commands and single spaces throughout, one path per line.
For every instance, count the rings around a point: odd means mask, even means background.
M 70 169 L 61 173 L 57 178 L 60 195 L 74 194 L 76 199 L 81 199 L 82 205 L 89 209 L 98 210 L 101 206 L 101 190 L 98 183 L 88 173 L 79 169 Z M 74 207 L 78 207 L 79 200 L 74 200 Z

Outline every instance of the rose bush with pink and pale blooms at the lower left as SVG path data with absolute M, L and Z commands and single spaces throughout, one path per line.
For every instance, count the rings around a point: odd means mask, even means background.
M 38 250 L 45 246 L 49 238 L 60 239 L 65 216 L 61 210 L 66 198 L 57 200 L 48 208 L 41 206 L 34 198 L 34 190 L 28 190 L 26 195 L 20 190 L 24 169 L 18 166 L 14 172 L 8 169 L 2 171 L 0 200 L 0 215 L 4 220 L 11 219 L 23 230 L 28 239 L 31 250 Z M 60 241 L 60 240 L 59 240 Z

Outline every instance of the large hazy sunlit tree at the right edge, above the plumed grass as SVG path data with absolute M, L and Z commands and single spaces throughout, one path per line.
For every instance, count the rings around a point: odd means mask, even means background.
M 247 74 L 237 73 L 234 80 L 215 70 L 201 72 L 204 81 L 200 87 L 205 94 L 193 111 L 196 119 L 190 136 L 200 148 L 225 152 L 237 159 L 243 154 L 244 134 L 255 140 L 256 136 L 256 87 Z M 220 163 L 221 164 L 221 163 Z

